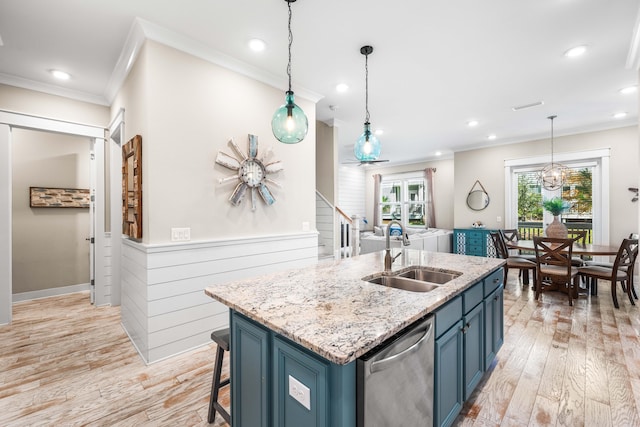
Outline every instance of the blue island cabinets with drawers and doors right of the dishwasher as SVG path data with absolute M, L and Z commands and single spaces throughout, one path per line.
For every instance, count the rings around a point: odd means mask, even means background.
M 504 339 L 502 269 L 435 312 L 434 425 L 450 426 Z

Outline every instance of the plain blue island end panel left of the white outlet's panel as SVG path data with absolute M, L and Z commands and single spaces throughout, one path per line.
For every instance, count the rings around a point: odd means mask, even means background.
M 269 332 L 231 315 L 231 421 L 234 427 L 268 427 Z

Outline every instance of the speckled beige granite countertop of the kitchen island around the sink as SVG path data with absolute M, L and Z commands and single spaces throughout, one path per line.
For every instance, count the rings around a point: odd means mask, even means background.
M 392 250 L 397 254 L 400 249 Z M 347 364 L 460 294 L 505 261 L 402 249 L 393 272 L 428 266 L 462 275 L 431 292 L 362 280 L 384 270 L 384 251 L 209 286 L 205 293 L 325 359 Z

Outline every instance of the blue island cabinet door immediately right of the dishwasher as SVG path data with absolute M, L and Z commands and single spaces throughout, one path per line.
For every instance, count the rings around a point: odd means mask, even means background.
M 434 425 L 450 426 L 462 409 L 462 321 L 436 339 Z

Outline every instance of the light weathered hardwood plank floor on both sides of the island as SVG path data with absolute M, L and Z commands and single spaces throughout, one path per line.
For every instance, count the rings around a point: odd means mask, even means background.
M 512 273 L 504 346 L 455 425 L 640 426 L 640 306 L 623 295 L 613 308 L 608 282 L 573 307 L 557 293 L 536 302 Z M 14 305 L 0 326 L 0 426 L 208 425 L 215 345 L 145 366 L 119 309 L 88 299 Z

